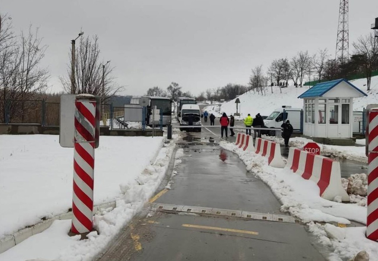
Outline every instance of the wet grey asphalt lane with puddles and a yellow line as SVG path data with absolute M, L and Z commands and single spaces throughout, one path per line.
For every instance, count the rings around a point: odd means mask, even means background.
M 280 203 L 207 129 L 183 132 L 171 190 L 153 204 L 280 214 Z M 156 212 L 133 221 L 98 260 L 324 260 L 301 224 Z

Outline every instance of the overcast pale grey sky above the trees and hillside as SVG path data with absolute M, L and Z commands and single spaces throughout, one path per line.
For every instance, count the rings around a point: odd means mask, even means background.
M 247 84 L 251 68 L 297 51 L 335 55 L 339 0 L 1 0 L 14 30 L 39 27 L 48 49 L 50 91 L 61 91 L 70 42 L 81 28 L 97 34 L 124 95 L 178 82 L 198 94 L 229 82 Z M 377 0 L 349 1 L 349 50 L 370 33 Z

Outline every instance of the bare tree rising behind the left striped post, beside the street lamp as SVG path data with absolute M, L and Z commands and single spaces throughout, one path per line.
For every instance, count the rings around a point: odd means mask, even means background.
M 79 47 L 75 51 L 75 86 L 76 94 L 89 93 L 101 96 L 101 101 L 105 102 L 115 96 L 123 87 L 115 82 L 112 75 L 113 68 L 110 64 L 100 61 L 100 48 L 98 36 L 92 38 L 81 38 Z M 71 51 L 70 51 L 71 61 Z M 102 86 L 102 65 L 104 65 L 104 89 Z M 71 92 L 71 66 L 67 68 L 67 75 L 60 77 L 65 92 Z

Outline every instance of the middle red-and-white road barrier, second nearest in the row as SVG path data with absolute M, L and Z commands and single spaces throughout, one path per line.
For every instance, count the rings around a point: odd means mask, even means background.
M 268 164 L 275 168 L 284 168 L 285 162 L 282 160 L 281 147 L 279 143 L 262 138 L 256 138 L 256 154 L 268 157 Z

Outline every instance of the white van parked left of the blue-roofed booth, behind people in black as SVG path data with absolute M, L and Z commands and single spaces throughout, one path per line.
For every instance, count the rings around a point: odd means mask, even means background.
M 294 131 L 301 130 L 301 116 L 302 108 L 291 108 L 291 106 L 282 106 L 282 108 L 275 109 L 264 120 L 265 127 L 268 128 L 280 128 L 284 120 L 289 120 L 293 125 Z M 274 136 L 275 131 L 268 132 L 269 135 Z

